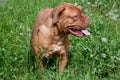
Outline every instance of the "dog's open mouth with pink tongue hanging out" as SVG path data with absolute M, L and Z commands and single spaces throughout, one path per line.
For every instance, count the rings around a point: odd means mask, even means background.
M 86 29 L 74 29 L 74 28 L 68 28 L 68 31 L 78 37 L 82 37 L 82 36 L 89 36 L 90 32 Z

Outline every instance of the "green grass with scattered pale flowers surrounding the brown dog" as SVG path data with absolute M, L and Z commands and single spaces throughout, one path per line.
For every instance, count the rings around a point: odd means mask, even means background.
M 37 13 L 70 2 L 90 17 L 91 36 L 71 35 L 69 62 L 28 72 L 30 36 Z M 0 80 L 120 80 L 119 0 L 0 0 Z

